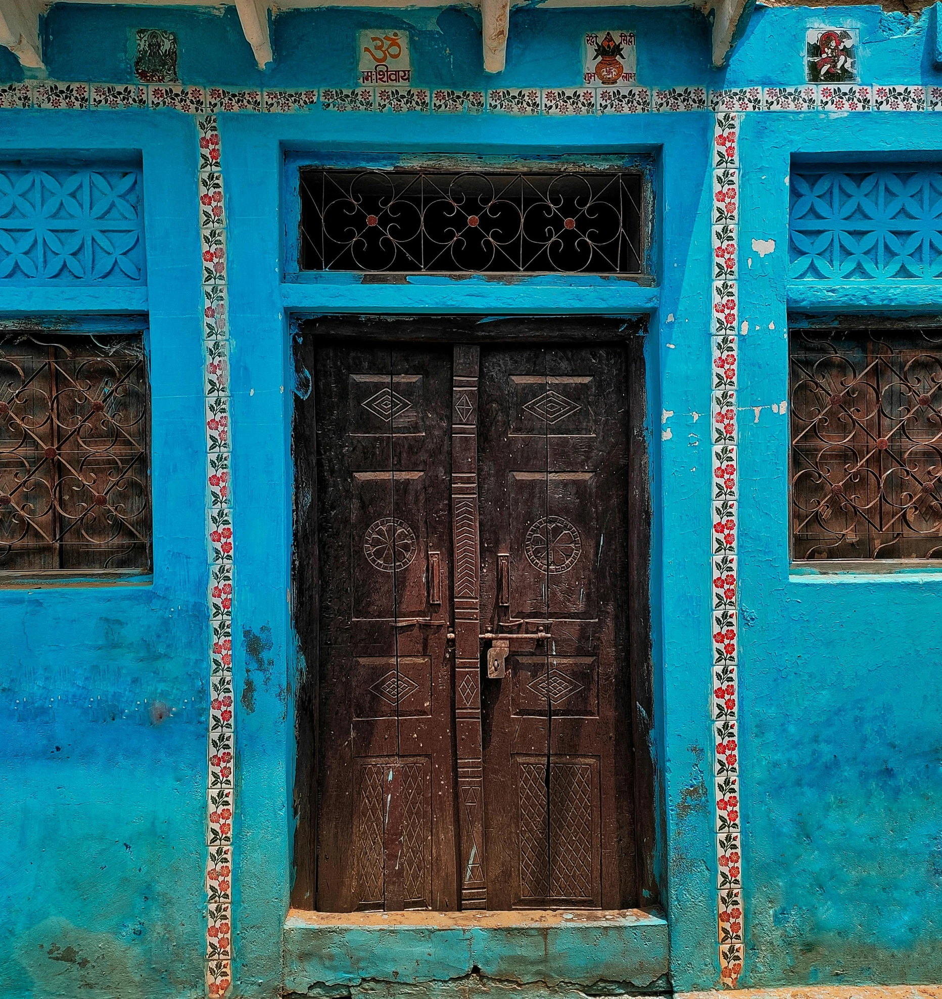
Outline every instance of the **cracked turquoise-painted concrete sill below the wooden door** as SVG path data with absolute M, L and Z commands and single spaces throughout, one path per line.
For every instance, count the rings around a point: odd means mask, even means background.
M 301 995 L 328 994 L 325 989 L 332 986 L 431 985 L 471 975 L 520 984 L 604 986 L 609 994 L 663 991 L 667 922 L 661 912 L 643 909 L 292 909 L 285 921 L 285 959 L 285 990 Z

